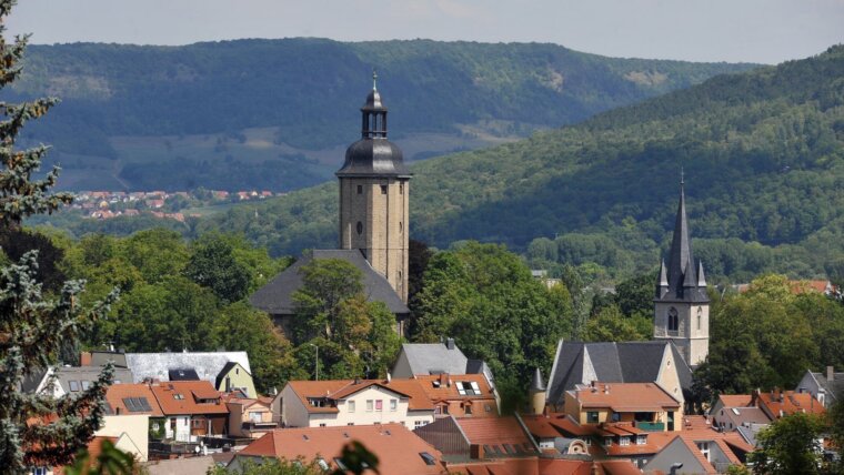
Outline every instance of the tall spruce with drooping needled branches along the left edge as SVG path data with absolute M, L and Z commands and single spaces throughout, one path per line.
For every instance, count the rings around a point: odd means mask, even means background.
M 21 72 L 27 37 L 7 43 L 2 23 L 14 0 L 0 0 L 0 88 Z M 22 219 L 51 213 L 72 196 L 52 193 L 58 169 L 43 180 L 33 180 L 44 145 L 16 150 L 16 138 L 26 122 L 43 115 L 56 99 L 37 99 L 11 104 L 0 102 L 0 229 L 17 230 Z M 26 473 L 32 465 L 64 465 L 93 437 L 102 423 L 105 387 L 113 370 L 103 368 L 99 378 L 79 394 L 59 398 L 23 394 L 20 383 L 30 370 L 56 363 L 66 342 L 108 310 L 113 300 L 82 309 L 78 304 L 83 283 L 66 282 L 58 295 L 44 297 L 36 279 L 38 252 L 29 251 L 14 264 L 0 269 L 0 466 L 9 473 Z

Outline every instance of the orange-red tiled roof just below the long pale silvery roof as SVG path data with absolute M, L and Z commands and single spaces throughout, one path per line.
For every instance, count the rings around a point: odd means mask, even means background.
M 170 381 L 150 386 L 164 415 L 227 414 L 221 394 L 208 381 Z M 195 397 L 194 397 L 195 396 Z M 214 403 L 198 403 L 197 398 L 214 398 Z

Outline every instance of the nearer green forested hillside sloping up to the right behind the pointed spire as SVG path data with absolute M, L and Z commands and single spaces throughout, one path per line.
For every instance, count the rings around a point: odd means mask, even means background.
M 651 266 L 669 238 L 681 168 L 696 255 L 714 275 L 811 276 L 844 263 L 844 47 L 418 163 L 411 236 L 504 242 L 546 263 Z M 334 245 L 335 208 L 329 183 L 268 203 L 258 218 L 232 210 L 199 229 L 240 230 L 295 253 Z M 532 243 L 540 236 L 550 239 Z

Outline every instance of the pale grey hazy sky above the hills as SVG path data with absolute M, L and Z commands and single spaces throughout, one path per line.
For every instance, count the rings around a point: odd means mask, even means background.
M 844 0 L 19 0 L 7 24 L 33 43 L 430 38 L 775 63 L 844 42 Z

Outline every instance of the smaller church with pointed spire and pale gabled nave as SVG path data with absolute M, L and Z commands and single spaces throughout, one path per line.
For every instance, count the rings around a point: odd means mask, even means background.
M 649 342 L 560 341 L 545 404 L 562 408 L 577 384 L 656 383 L 679 401 L 691 396 L 692 370 L 710 347 L 710 304 L 703 264 L 692 255 L 684 181 L 667 266 L 662 262 L 654 296 L 654 337 Z

